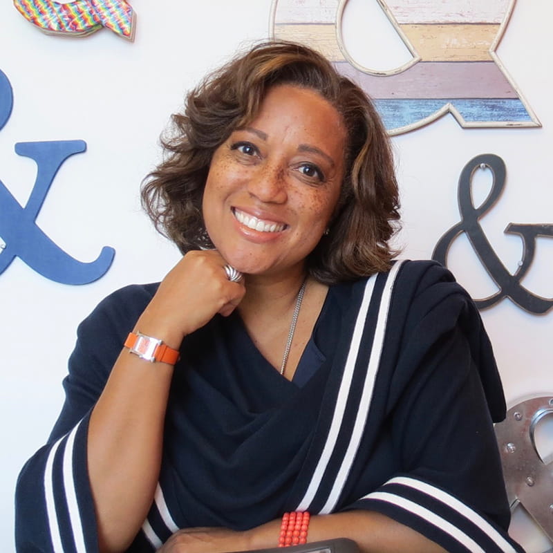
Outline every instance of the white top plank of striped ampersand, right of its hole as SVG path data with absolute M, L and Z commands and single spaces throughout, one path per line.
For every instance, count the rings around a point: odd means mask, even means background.
M 503 23 L 515 0 L 378 0 L 397 23 Z

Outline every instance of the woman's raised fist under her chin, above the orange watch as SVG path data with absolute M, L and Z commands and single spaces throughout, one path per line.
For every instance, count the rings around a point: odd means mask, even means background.
M 178 348 L 182 338 L 216 313 L 230 315 L 245 288 L 243 281 L 229 281 L 225 265 L 216 250 L 188 252 L 163 279 L 136 328 Z

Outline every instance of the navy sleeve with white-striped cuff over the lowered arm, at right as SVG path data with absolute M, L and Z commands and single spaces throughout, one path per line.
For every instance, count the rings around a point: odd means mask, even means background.
M 415 266 L 418 278 L 409 277 L 409 265 L 396 283 L 382 359 L 393 377 L 379 375 L 397 470 L 353 507 L 386 514 L 449 552 L 521 552 L 507 533 L 493 427 L 505 400 L 480 315 L 449 272 Z

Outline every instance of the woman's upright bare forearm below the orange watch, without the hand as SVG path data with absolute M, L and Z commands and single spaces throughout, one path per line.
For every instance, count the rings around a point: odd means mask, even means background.
M 172 374 L 123 350 L 91 414 L 88 475 L 102 553 L 124 551 L 147 516 Z

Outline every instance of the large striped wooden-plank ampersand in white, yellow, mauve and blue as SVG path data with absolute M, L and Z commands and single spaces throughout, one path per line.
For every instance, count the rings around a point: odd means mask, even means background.
M 463 127 L 541 126 L 496 55 L 515 0 L 376 1 L 413 55 L 390 71 L 348 54 L 341 31 L 347 0 L 273 0 L 270 31 L 329 57 L 375 100 L 391 135 L 448 112 Z

